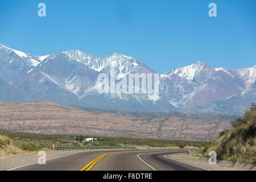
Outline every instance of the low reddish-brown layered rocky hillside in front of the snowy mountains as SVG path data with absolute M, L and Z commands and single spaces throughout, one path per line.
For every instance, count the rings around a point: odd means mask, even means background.
M 89 113 L 69 107 L 69 133 L 137 138 L 212 140 L 229 122 L 178 117 L 135 118 L 112 113 Z M 65 134 L 67 106 L 38 101 L 0 102 L 0 129 L 25 133 Z

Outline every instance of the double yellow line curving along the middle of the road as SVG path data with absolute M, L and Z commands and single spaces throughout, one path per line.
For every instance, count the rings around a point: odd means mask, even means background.
M 80 171 L 89 171 L 97 162 L 99 162 L 101 159 L 105 158 L 105 156 L 107 156 L 109 154 L 127 153 L 127 152 L 154 152 L 154 151 L 159 152 L 159 151 L 174 151 L 174 150 L 188 150 L 188 149 L 175 148 L 175 149 L 170 149 L 170 150 L 137 150 L 137 151 L 109 152 L 109 153 L 99 156 L 97 159 L 92 160 L 85 167 L 81 168 Z

